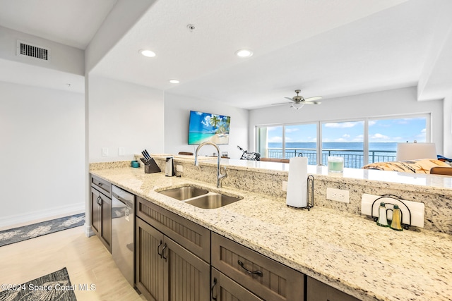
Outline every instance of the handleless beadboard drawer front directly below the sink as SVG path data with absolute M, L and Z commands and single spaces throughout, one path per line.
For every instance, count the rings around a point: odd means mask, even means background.
M 138 196 L 136 216 L 210 263 L 210 230 Z

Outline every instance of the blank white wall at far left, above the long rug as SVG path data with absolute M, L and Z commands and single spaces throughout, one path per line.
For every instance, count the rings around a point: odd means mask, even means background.
M 0 82 L 0 95 L 0 226 L 83 211 L 83 94 Z

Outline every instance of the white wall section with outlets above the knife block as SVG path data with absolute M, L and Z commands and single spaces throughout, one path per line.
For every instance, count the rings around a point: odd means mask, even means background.
M 163 152 L 163 92 L 89 75 L 89 161 L 132 160 L 133 154 Z M 102 147 L 109 150 L 102 156 Z M 125 156 L 119 156 L 124 147 Z

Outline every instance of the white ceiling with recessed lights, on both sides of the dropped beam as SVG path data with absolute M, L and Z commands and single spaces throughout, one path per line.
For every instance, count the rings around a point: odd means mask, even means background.
M 85 49 L 115 3 L 0 0 L 0 25 Z M 246 109 L 284 102 L 295 89 L 328 101 L 415 86 L 444 3 L 159 0 L 91 73 Z M 138 54 L 145 48 L 157 56 Z M 254 55 L 238 58 L 242 48 Z

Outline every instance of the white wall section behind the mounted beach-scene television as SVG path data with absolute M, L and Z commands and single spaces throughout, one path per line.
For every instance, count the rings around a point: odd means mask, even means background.
M 184 97 L 182 95 L 165 92 L 165 152 L 194 152 L 197 145 L 188 145 L 190 111 L 202 111 L 231 116 L 229 145 L 219 145 L 220 152 L 228 152 L 230 158 L 239 159 L 242 152 L 237 149 L 240 145 L 248 149 L 248 120 L 249 111 L 234 108 L 220 102 L 206 102 L 205 100 Z M 211 155 L 215 148 L 206 146 L 200 154 Z

